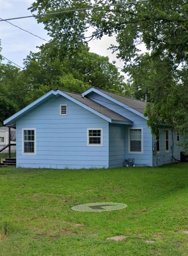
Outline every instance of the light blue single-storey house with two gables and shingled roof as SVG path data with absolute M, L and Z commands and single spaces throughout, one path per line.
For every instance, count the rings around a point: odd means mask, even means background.
M 16 166 L 113 168 L 179 160 L 181 136 L 165 126 L 152 135 L 145 106 L 98 88 L 51 90 L 4 121 L 16 126 Z

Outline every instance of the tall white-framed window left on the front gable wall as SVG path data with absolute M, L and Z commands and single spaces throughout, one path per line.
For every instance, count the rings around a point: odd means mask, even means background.
M 36 131 L 35 129 L 23 129 L 23 145 L 22 152 L 23 154 L 35 154 L 36 146 Z

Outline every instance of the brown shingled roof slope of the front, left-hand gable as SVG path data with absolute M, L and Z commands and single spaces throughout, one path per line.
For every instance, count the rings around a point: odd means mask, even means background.
M 63 90 L 61 90 L 63 91 Z M 91 99 L 87 98 L 87 97 L 83 97 L 81 94 L 79 93 L 73 93 L 70 91 L 63 91 L 65 94 L 71 96 L 72 98 L 82 102 L 83 104 L 89 106 L 90 108 L 96 110 L 97 112 L 105 115 L 106 117 L 109 117 L 112 120 L 116 120 L 116 121 L 125 121 L 125 122 L 131 122 L 129 119 L 127 119 L 126 117 L 123 117 L 122 115 L 119 115 L 118 113 L 110 110 L 109 108 L 95 102 L 92 101 Z

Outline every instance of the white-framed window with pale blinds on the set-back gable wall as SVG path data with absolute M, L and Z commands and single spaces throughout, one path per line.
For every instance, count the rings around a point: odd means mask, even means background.
M 142 129 L 129 129 L 129 152 L 142 153 Z

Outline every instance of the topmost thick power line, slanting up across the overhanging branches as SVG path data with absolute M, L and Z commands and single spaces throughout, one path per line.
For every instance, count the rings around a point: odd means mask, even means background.
M 2 19 L 1 21 L 7 21 L 7 20 L 18 20 L 18 19 L 23 19 L 23 18 L 35 18 L 35 17 L 40 17 L 40 16 L 46 16 L 46 15 L 58 15 L 62 13 L 71 13 L 71 12 L 76 12 L 76 11 L 87 11 L 87 10 L 92 10 L 92 9 L 100 9 L 100 8 L 105 8 L 105 7 L 112 7 L 112 6 L 121 6 L 121 5 L 128 5 L 128 4 L 137 4 L 140 2 L 148 2 L 151 0 L 139 0 L 139 1 L 132 1 L 132 2 L 125 2 L 125 3 L 119 3 L 119 4 L 109 4 L 109 5 L 101 5 L 101 6 L 91 6 L 91 7 L 85 7 L 85 8 L 80 8 L 80 9 L 73 9 L 73 10 L 65 10 L 65 11 L 60 11 L 56 13 L 43 13 L 43 14 L 36 14 L 36 15 L 30 15 L 30 16 L 21 16 L 21 17 L 16 17 L 16 18 L 7 18 L 7 19 Z

